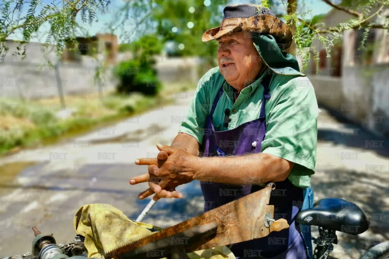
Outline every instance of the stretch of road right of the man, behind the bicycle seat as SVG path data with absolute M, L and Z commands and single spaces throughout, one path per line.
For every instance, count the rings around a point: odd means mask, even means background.
M 370 228 L 361 235 L 336 232 L 338 245 L 331 256 L 358 259 L 366 249 L 389 240 L 388 145 L 387 140 L 337 121 L 326 110 L 320 112 L 314 200 L 342 198 L 356 203 L 370 219 Z M 317 228 L 312 230 L 317 237 Z

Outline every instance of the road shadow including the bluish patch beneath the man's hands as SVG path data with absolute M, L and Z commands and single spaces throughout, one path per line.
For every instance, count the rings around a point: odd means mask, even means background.
M 126 163 L 93 163 L 54 169 L 50 168 L 49 161 L 43 161 L 15 172 L 17 177 L 1 182 L 0 190 L 5 193 L 16 189 L 44 191 L 46 195 L 81 191 L 82 197 L 94 194 L 97 203 L 109 203 L 123 208 L 123 212 L 135 220 L 152 196 L 139 200 L 138 194 L 149 186 L 147 183 L 131 186 L 129 180 L 145 172 L 147 166 Z M 156 226 L 166 228 L 203 213 L 204 200 L 199 181 L 179 186 L 177 191 L 183 194 L 182 199 L 159 200 L 145 217 L 145 222 L 153 222 Z M 123 206 L 121 202 L 131 208 Z

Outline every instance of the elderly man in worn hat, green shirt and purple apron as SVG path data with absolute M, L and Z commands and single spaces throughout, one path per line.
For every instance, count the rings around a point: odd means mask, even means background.
M 137 159 L 149 172 L 130 180 L 149 182 L 140 199 L 182 198 L 175 187 L 200 180 L 205 211 L 275 182 L 270 204 L 290 227 L 234 244 L 238 258 L 311 254 L 310 229 L 297 229 L 294 217 L 312 207 L 318 107 L 312 84 L 285 52 L 291 39 L 289 27 L 268 9 L 225 7 L 221 26 L 202 38 L 219 42 L 219 66 L 200 79 L 173 144 L 158 145 L 157 158 Z

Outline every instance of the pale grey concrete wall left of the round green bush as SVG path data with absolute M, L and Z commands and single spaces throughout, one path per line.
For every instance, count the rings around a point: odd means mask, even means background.
M 18 42 L 7 42 L 9 47 L 4 61 L 0 63 L 0 96 L 34 99 L 49 96 L 58 96 L 58 85 L 63 87 L 64 94 L 89 93 L 97 91 L 94 76 L 97 68 L 96 61 L 89 56 L 82 56 L 81 62 L 64 62 L 56 70 L 42 64 L 51 61 L 58 63 L 56 49 L 45 48 L 42 44 L 31 42 L 23 48 L 26 58 L 21 60 L 19 55 L 12 55 L 16 51 Z M 40 67 L 41 66 L 41 67 Z M 110 78 L 108 71 L 106 77 Z M 112 80 L 107 80 L 103 87 L 112 89 Z

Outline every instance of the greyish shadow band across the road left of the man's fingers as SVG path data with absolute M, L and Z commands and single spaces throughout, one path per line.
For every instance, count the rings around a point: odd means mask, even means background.
M 34 166 L 22 168 L 19 172 L 14 173 L 17 177 L 14 177 L 15 179 L 12 179 L 12 181 L 2 181 L 0 189 L 83 191 L 137 195 L 131 189 L 129 184 L 131 176 L 127 174 L 127 170 L 139 172 L 140 175 L 141 169 L 144 169 L 136 168 L 130 164 L 118 163 L 75 165 L 73 168 L 52 170 L 49 168 L 49 164 L 50 161 L 44 161 Z

